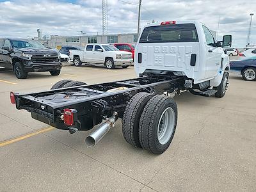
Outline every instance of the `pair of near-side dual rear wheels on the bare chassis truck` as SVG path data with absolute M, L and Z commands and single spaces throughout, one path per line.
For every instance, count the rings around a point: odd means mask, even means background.
M 162 154 L 172 142 L 177 125 L 177 105 L 165 95 L 137 93 L 122 119 L 125 140 L 153 154 Z

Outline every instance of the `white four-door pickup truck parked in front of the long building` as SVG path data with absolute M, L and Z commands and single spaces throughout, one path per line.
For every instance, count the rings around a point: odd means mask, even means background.
M 74 65 L 81 66 L 82 63 L 90 65 L 101 64 L 111 69 L 116 66 L 123 68 L 132 64 L 132 54 L 130 52 L 119 51 L 113 45 L 108 44 L 87 44 L 84 51 L 70 50 L 70 60 Z

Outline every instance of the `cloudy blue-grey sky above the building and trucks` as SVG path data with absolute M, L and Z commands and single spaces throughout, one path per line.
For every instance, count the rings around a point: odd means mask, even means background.
M 136 33 L 139 0 L 108 0 L 108 34 Z M 141 27 L 155 20 L 200 20 L 219 37 L 233 36 L 232 47 L 245 47 L 252 20 L 250 43 L 256 44 L 256 0 L 142 0 Z M 101 0 L 0 0 L 0 37 L 32 38 L 102 33 Z

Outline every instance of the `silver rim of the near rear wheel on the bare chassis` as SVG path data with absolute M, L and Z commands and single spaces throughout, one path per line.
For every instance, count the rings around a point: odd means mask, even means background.
M 166 108 L 158 122 L 157 139 L 161 145 L 168 143 L 175 126 L 175 112 L 173 108 Z

